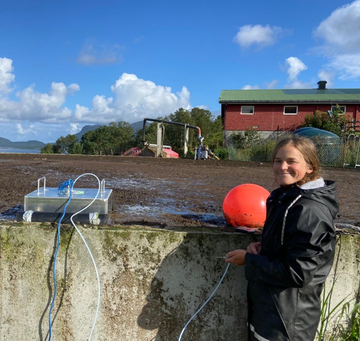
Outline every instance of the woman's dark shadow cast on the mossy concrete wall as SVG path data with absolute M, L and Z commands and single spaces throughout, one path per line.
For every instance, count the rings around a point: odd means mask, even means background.
M 137 319 L 139 327 L 157 330 L 151 340 L 178 340 L 185 324 L 221 279 L 226 264 L 215 257 L 224 256 L 233 246 L 228 245 L 228 237 L 208 237 L 200 233 L 185 235 L 183 242 L 161 262 Z M 187 326 L 181 340 L 246 340 L 246 314 L 243 269 L 230 265 L 222 284 Z

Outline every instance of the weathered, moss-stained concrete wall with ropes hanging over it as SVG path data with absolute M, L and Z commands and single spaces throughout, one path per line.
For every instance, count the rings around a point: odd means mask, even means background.
M 79 227 L 100 276 L 100 309 L 92 340 L 178 340 L 182 328 L 220 280 L 229 250 L 255 235 L 216 229 L 168 231 L 143 226 Z M 359 236 L 342 236 L 331 305 L 359 286 Z M 339 245 L 339 243 L 338 243 Z M 47 340 L 53 295 L 56 228 L 50 224 L 0 224 L 0 340 Z M 335 272 L 328 278 L 332 285 Z M 87 340 L 97 303 L 90 256 L 72 226 L 61 227 L 56 262 L 51 340 Z M 212 300 L 189 324 L 182 341 L 246 340 L 246 281 L 230 266 Z

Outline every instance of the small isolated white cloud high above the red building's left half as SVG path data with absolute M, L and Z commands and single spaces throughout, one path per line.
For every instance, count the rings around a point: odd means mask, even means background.
M 236 33 L 234 41 L 244 48 L 251 45 L 261 48 L 273 45 L 282 32 L 282 28 L 277 26 L 244 25 Z

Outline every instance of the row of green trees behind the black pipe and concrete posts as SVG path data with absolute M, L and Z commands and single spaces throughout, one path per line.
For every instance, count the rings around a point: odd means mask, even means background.
M 168 116 L 158 117 L 159 120 L 186 123 L 198 126 L 204 144 L 210 149 L 222 146 L 223 128 L 221 117 L 212 116 L 209 110 L 193 108 L 191 111 L 179 108 Z M 162 143 L 170 145 L 179 154 L 182 154 L 184 144 L 184 126 L 165 124 Z M 197 147 L 197 131 L 189 130 L 188 149 Z M 145 140 L 150 143 L 157 142 L 157 122 L 152 122 L 145 127 Z M 141 146 L 142 130 L 135 134 L 130 124 L 125 121 L 109 122 L 95 130 L 89 130 L 82 135 L 78 142 L 75 135 L 60 136 L 52 146 L 53 153 L 94 154 L 94 155 L 121 155 L 126 149 Z M 48 151 L 50 147 L 48 147 Z M 82 149 L 81 149 L 82 148 Z

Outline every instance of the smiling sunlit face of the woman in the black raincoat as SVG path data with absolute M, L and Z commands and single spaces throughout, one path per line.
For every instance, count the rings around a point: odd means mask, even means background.
M 272 171 L 279 185 L 292 185 L 312 172 L 301 153 L 291 144 L 281 147 L 275 155 Z

